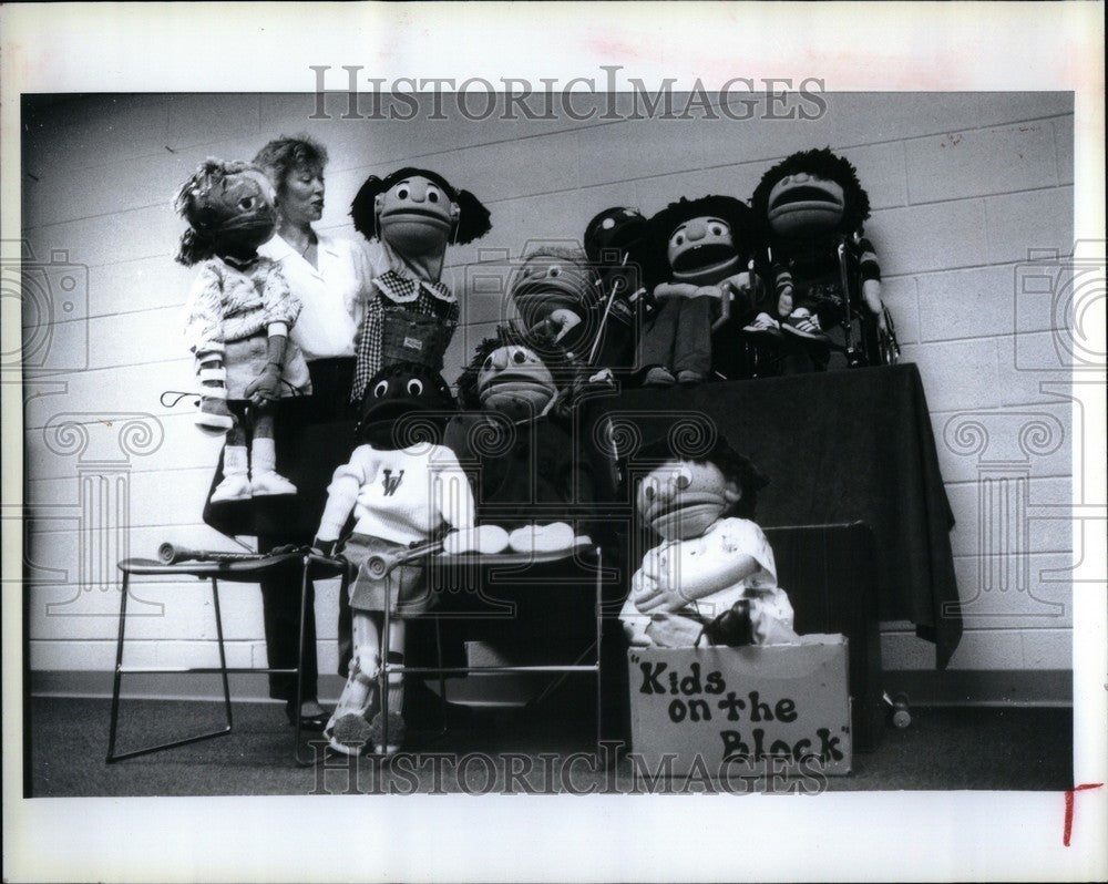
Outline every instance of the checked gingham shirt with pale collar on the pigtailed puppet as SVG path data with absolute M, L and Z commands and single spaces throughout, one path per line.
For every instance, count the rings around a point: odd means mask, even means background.
M 425 279 L 410 279 L 396 270 L 389 270 L 373 280 L 377 297 L 366 305 L 366 315 L 358 329 L 356 354 L 358 361 L 353 370 L 353 387 L 350 400 L 360 402 L 370 379 L 382 364 L 382 329 L 386 310 L 407 310 L 420 316 L 433 316 L 453 330 L 458 325 L 458 299 L 442 282 Z

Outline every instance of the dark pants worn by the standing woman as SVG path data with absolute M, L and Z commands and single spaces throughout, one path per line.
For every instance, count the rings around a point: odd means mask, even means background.
M 295 530 L 258 536 L 258 549 L 269 551 L 284 544 L 310 544 L 315 536 L 312 525 L 319 524 L 322 506 L 327 501 L 330 475 L 339 464 L 346 463 L 355 448 L 353 421 L 350 417 L 350 386 L 353 380 L 353 358 L 324 359 L 308 363 L 311 373 L 312 395 L 309 405 L 295 423 L 278 423 L 278 459 L 281 452 L 289 462 L 278 467 L 297 486 L 298 505 L 306 510 L 307 518 Z M 322 428 L 322 429 L 320 429 Z M 320 436 L 330 444 L 319 444 Z M 315 592 L 308 586 L 308 608 L 305 611 L 304 696 L 316 697 L 318 669 L 316 662 L 316 617 L 312 604 Z M 300 618 L 300 571 L 287 568 L 273 572 L 261 580 L 261 610 L 266 628 L 266 650 L 269 666 L 289 669 L 296 666 L 298 623 Z M 341 645 L 342 615 L 346 615 L 349 635 L 350 613 L 347 599 L 339 599 L 339 635 Z M 296 677 L 269 676 L 269 696 L 293 700 L 296 697 Z

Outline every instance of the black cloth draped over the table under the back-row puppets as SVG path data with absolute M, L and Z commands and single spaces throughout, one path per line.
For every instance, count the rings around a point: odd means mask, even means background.
M 914 623 L 946 667 L 962 637 L 954 516 L 915 366 L 632 390 L 591 400 L 582 420 L 594 443 L 605 438 L 597 421 L 611 420 L 620 455 L 677 424 L 694 448 L 722 433 L 770 479 L 762 527 L 865 522 L 881 619 Z

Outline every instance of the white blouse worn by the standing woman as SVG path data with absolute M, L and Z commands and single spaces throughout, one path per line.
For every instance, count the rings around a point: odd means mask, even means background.
M 309 362 L 355 354 L 355 337 L 375 276 L 361 244 L 326 234 L 316 236 L 318 268 L 280 236 L 258 248 L 259 255 L 280 266 L 304 306 L 290 337 Z

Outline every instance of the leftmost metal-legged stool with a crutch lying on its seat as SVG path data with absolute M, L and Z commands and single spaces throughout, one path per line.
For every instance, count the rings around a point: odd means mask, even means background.
M 219 554 L 212 554 L 218 556 Z M 232 556 L 234 556 L 232 558 Z M 213 737 L 223 737 L 224 734 L 230 733 L 233 728 L 232 711 L 230 711 L 230 686 L 227 681 L 227 676 L 232 674 L 261 674 L 261 675 L 295 675 L 296 676 L 296 734 L 293 743 L 293 757 L 297 764 L 306 767 L 311 764 L 310 760 L 306 760 L 300 755 L 300 705 L 302 701 L 302 689 L 301 683 L 302 667 L 304 667 L 304 619 L 305 613 L 307 610 L 308 600 L 308 580 L 309 579 L 322 579 L 327 577 L 341 576 L 342 577 L 342 589 L 346 590 L 347 585 L 347 569 L 342 567 L 340 563 L 336 563 L 332 559 L 324 558 L 321 556 L 315 555 L 308 551 L 298 549 L 290 553 L 281 554 L 270 554 L 270 555 L 250 555 L 250 554 L 230 554 L 225 558 L 229 561 L 194 561 L 194 562 L 179 562 L 174 564 L 166 564 L 165 561 L 158 562 L 151 558 L 127 558 L 119 563 L 120 571 L 123 572 L 123 588 L 120 594 L 120 631 L 119 638 L 115 646 L 115 679 L 112 687 L 112 718 L 111 728 L 107 737 L 107 759 L 106 763 L 112 764 L 116 761 L 122 761 L 127 758 L 135 758 L 136 755 L 145 755 L 151 752 L 158 752 L 163 749 L 173 749 L 178 746 L 187 746 L 188 743 L 198 742 L 199 740 L 207 740 Z M 170 559 L 172 561 L 172 559 Z M 288 567 L 293 563 L 299 562 L 301 567 L 301 579 L 300 579 L 300 617 L 299 617 L 299 641 L 297 644 L 297 665 L 293 669 L 278 669 L 278 668 L 233 668 L 227 666 L 227 655 L 224 647 L 223 639 L 223 617 L 219 613 L 219 580 L 230 580 L 233 583 L 258 583 L 261 575 L 268 571 L 273 571 L 278 567 Z M 219 645 L 219 666 L 218 667 L 162 667 L 162 668 L 145 668 L 145 667 L 124 667 L 123 666 L 123 641 L 124 631 L 126 626 L 126 614 L 127 614 L 127 595 L 129 585 L 131 582 L 131 575 L 142 575 L 142 576 L 192 576 L 197 579 L 212 580 L 212 604 L 215 608 L 215 628 L 216 635 L 218 637 Z M 311 652 L 315 652 L 315 648 L 311 648 Z M 224 713 L 226 719 L 226 724 L 220 730 L 209 731 L 207 733 L 199 733 L 193 737 L 185 737 L 179 740 L 172 740 L 165 743 L 158 743 L 156 746 L 148 746 L 142 749 L 135 749 L 129 752 L 115 751 L 115 736 L 119 724 L 120 716 L 120 687 L 124 675 L 134 674 L 218 674 L 223 677 L 223 703 Z

